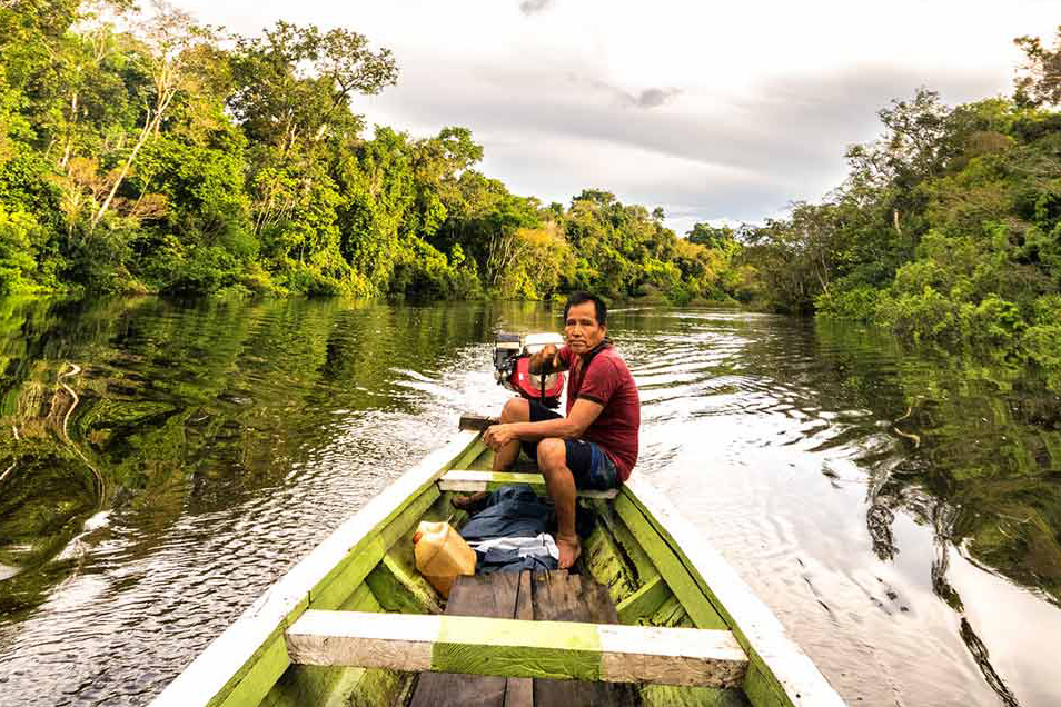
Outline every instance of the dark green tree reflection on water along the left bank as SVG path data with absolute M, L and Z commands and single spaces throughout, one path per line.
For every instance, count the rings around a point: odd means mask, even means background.
M 78 567 L 92 514 L 136 514 L 142 555 L 182 514 L 294 482 L 333 410 L 410 411 L 400 369 L 434 370 L 488 320 L 297 299 L 0 301 L 0 619 Z M 71 364 L 76 407 L 58 385 Z

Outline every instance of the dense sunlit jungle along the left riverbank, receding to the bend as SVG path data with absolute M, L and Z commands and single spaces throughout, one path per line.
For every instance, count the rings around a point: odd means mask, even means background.
M 732 238 L 605 191 L 510 193 L 465 128 L 368 139 L 351 104 L 398 68 L 360 34 L 231 37 L 123 1 L 0 9 L 0 295 L 731 293 Z

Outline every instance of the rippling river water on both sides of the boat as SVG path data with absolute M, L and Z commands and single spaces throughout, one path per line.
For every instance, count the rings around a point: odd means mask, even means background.
M 0 705 L 143 705 L 507 394 L 537 303 L 0 301 Z M 651 477 L 852 705 L 1061 703 L 1061 401 L 850 327 L 617 309 Z

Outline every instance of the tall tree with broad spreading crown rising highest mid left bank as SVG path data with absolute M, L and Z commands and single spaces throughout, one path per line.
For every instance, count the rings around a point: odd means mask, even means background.
M 390 52 L 369 50 L 364 36 L 345 29 L 281 21 L 261 38 L 238 40 L 232 67 L 228 102 L 251 143 L 250 208 L 262 252 L 296 287 L 309 277 L 313 289 L 365 293 L 344 259 L 338 209 L 351 197 L 340 192 L 334 156 L 361 129 L 354 96 L 395 82 Z

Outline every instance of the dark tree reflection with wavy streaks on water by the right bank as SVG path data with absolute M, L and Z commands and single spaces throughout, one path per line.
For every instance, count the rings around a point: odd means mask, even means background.
M 860 450 L 866 529 L 881 560 L 902 551 L 892 530 L 899 512 L 932 529 L 933 591 L 961 616 L 961 639 L 985 681 L 1002 704 L 1017 705 L 963 616 L 948 565 L 960 548 L 1061 605 L 1059 396 L 1005 361 L 902 350 L 890 337 L 850 328 L 792 333 L 781 347 L 753 341 L 747 359 L 795 390 L 793 405 L 833 414 L 816 435 L 832 437 L 815 451 Z

